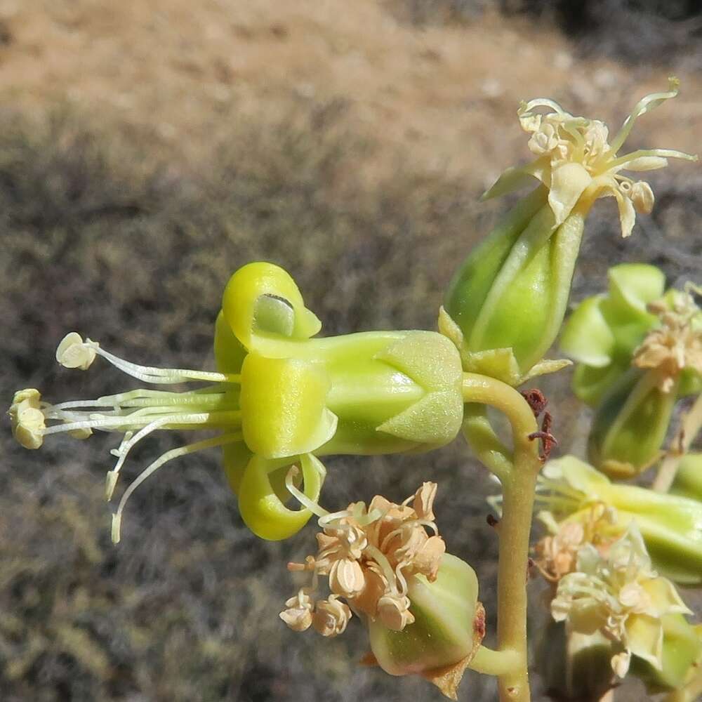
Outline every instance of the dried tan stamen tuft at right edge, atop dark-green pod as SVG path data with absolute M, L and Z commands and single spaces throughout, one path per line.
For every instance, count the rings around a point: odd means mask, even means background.
M 702 373 L 702 312 L 691 291 L 677 292 L 672 305 L 650 303 L 661 326 L 654 329 L 634 352 L 634 365 L 658 371 L 658 387 L 670 392 L 684 369 Z

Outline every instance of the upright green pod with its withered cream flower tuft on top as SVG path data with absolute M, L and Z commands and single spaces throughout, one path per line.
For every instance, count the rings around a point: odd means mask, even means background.
M 654 196 L 647 183 L 622 171 L 663 168 L 667 159 L 696 157 L 670 150 L 618 155 L 636 119 L 677 95 L 643 98 L 608 143 L 602 122 L 574 117 L 552 100 L 532 100 L 519 109 L 531 134 L 536 159 L 505 171 L 484 197 L 541 182 L 519 201 L 458 269 L 444 299 L 444 327 L 461 345 L 465 370 L 512 385 L 548 373 L 564 362 L 543 362 L 567 307 L 585 218 L 597 198 L 615 197 L 621 230 L 627 237 L 635 212 L 649 213 Z M 536 112 L 545 108 L 545 114 Z M 449 322 L 450 320 L 450 322 Z

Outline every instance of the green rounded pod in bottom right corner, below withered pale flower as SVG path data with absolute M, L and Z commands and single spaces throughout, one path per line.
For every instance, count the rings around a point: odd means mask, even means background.
M 690 673 L 699 668 L 702 658 L 702 630 L 692 625 L 682 614 L 661 617 L 663 644 L 661 668 L 634 658 L 631 672 L 646 684 L 649 694 L 658 694 L 684 687 Z

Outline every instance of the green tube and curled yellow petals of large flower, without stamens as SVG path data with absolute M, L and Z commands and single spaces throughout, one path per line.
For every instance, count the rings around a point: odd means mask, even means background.
M 444 336 L 310 338 L 319 326 L 282 268 L 252 263 L 227 284 L 215 353 L 220 370 L 241 370 L 246 448 L 225 446 L 225 470 L 246 523 L 264 538 L 289 535 L 272 525 L 290 518 L 280 486 L 297 456 L 428 451 L 461 428 L 461 359 Z

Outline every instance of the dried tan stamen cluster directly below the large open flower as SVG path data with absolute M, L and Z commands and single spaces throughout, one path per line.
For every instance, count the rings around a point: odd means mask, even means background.
M 293 630 L 312 626 L 323 636 L 343 633 L 352 610 L 395 631 L 413 623 L 407 578 L 422 574 L 435 581 L 446 550 L 433 521 L 436 491 L 435 483 L 425 482 L 401 505 L 376 495 L 367 509 L 352 503 L 319 519 L 317 555 L 288 565 L 310 571 L 312 586 L 291 597 L 280 618 Z M 328 578 L 332 594 L 314 602 L 319 576 Z

